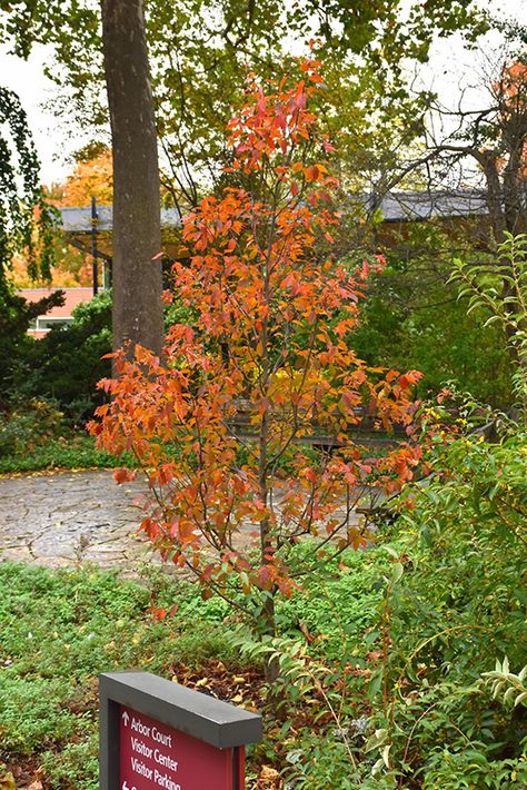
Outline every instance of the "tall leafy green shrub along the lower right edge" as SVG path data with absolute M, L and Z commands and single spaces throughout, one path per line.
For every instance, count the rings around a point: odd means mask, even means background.
M 509 787 L 505 774 L 525 776 L 521 707 L 498 705 L 480 677 L 497 656 L 525 658 L 526 446 L 525 436 L 450 443 L 434 462 L 440 478 L 411 494 L 398 522 L 405 572 L 387 590 L 370 684 L 382 710 L 378 749 L 390 747 L 380 773 L 424 788 L 454 776 L 459 787 Z

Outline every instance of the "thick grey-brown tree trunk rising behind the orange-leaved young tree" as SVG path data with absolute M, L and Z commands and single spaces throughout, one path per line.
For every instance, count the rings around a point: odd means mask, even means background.
M 159 167 L 142 0 L 101 0 L 113 149 L 113 348 L 162 344 Z

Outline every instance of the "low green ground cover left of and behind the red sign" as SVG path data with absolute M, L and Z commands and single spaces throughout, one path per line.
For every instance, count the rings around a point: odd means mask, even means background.
M 168 594 L 156 574 L 146 586 L 89 569 L 0 564 L 0 763 L 31 754 L 46 787 L 95 790 L 99 672 L 145 666 L 170 678 L 173 662 L 231 660 L 221 613 L 172 583 L 181 612 L 155 622 L 155 593 Z

